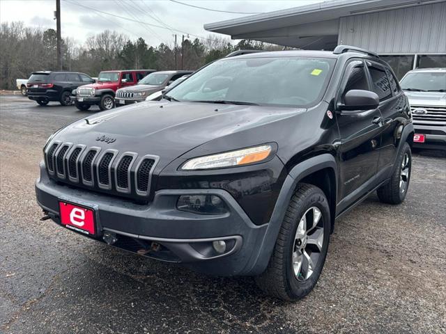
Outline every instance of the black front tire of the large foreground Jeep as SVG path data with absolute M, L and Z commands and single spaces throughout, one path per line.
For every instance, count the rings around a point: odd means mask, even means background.
M 298 228 L 301 229 L 301 219 L 304 215 L 307 217 L 307 220 L 309 215 L 310 217 L 316 216 L 313 208 L 318 209 L 321 215 L 316 228 L 307 230 L 310 232 L 314 231 L 312 234 L 307 235 L 307 240 L 314 236 L 318 229 L 322 227 L 322 232 L 319 231 L 318 234 L 322 238 L 322 246 L 318 248 L 319 251 L 315 249 L 311 253 L 309 253 L 310 250 L 304 248 L 306 254 L 310 255 L 310 258 L 317 256 L 316 264 L 313 262 L 312 273 L 309 273 L 309 262 L 307 262 L 307 270 L 302 274 L 301 271 L 305 266 L 302 262 L 304 255 L 301 255 L 301 269 L 297 269 L 298 273 L 296 274 L 295 266 L 298 262 L 294 262 L 293 255 L 298 251 L 297 248 L 303 246 L 302 242 L 298 244 L 298 241 L 301 240 L 296 239 L 298 237 L 296 232 L 298 232 Z M 321 275 L 325 257 L 327 256 L 330 224 L 330 207 L 323 191 L 312 184 L 298 184 L 286 209 L 285 218 L 268 267 L 266 271 L 255 278 L 257 285 L 263 292 L 279 299 L 292 301 L 301 299 L 312 291 Z M 307 240 L 305 240 L 305 245 L 307 245 L 305 247 L 314 246 L 316 248 L 314 244 L 307 244 Z M 308 273 L 309 277 L 305 277 Z

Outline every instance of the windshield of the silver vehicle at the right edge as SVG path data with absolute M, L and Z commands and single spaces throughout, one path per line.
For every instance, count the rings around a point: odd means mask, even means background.
M 428 92 L 446 91 L 446 72 L 412 72 L 403 77 L 400 82 L 405 90 L 420 90 Z

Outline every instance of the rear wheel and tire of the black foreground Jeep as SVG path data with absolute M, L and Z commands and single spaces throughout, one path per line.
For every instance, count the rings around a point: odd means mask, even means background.
M 379 200 L 387 204 L 400 204 L 403 202 L 409 189 L 411 170 L 412 152 L 409 144 L 406 142 L 403 143 L 403 148 L 395 161 L 390 182 L 380 186 L 376 191 Z

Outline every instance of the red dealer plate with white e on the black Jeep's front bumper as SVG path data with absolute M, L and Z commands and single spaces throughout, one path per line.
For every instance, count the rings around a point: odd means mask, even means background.
M 84 234 L 95 234 L 95 214 L 88 207 L 59 202 L 61 223 L 67 228 Z

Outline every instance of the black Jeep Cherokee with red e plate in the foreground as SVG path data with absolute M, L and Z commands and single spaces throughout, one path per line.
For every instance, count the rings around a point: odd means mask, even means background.
M 335 218 L 376 189 L 404 200 L 412 141 L 408 100 L 375 54 L 245 54 L 160 102 L 60 129 L 36 193 L 47 216 L 87 237 L 299 299 Z

